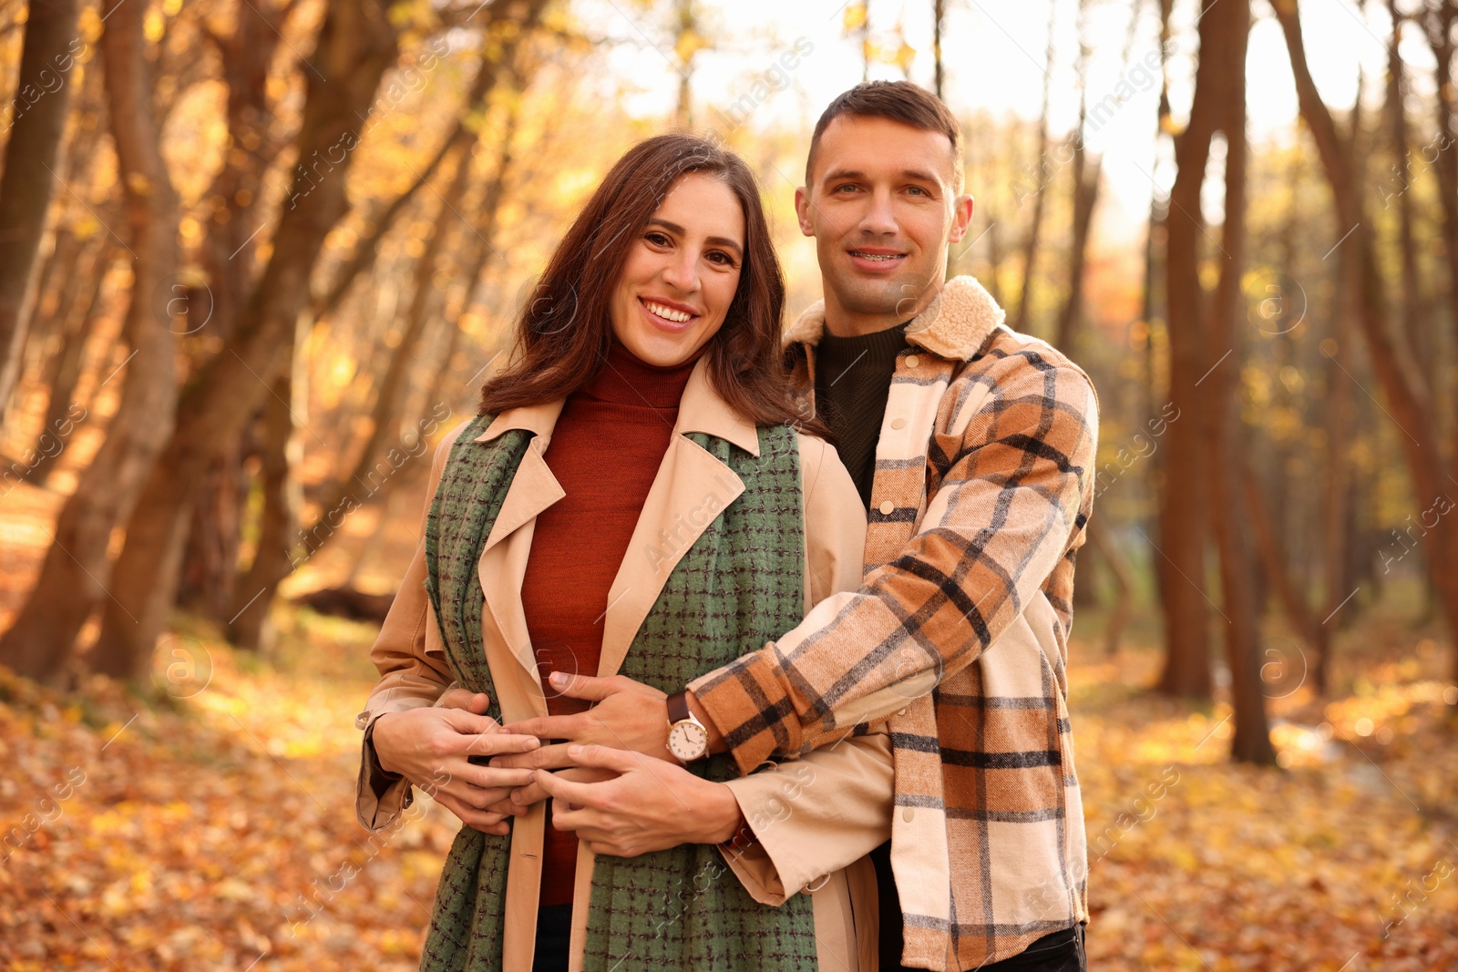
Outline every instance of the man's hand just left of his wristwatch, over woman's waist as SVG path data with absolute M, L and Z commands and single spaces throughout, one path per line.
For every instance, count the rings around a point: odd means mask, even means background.
M 574 767 L 577 761 L 567 753 L 569 743 L 627 749 L 678 765 L 668 752 L 668 695 L 663 692 L 634 682 L 625 675 L 599 679 L 553 672 L 551 686 L 569 698 L 595 701 L 596 705 L 574 716 L 542 716 L 503 726 L 507 733 L 567 742 L 542 746 L 531 753 L 497 756 L 491 759 L 493 767 L 503 769 Z

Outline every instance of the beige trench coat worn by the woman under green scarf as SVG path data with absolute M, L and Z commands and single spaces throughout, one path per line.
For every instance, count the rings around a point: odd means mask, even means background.
M 714 392 L 706 361 L 700 360 L 694 367 L 684 389 L 674 437 L 609 590 L 599 676 L 618 672 L 639 625 L 679 557 L 717 512 L 744 491 L 744 484 L 728 466 L 682 433 L 717 436 L 758 455 L 755 427 L 733 414 Z M 510 428 L 535 433 L 478 563 L 486 593 L 481 632 L 503 721 L 547 714 L 521 587 L 537 514 L 566 495 L 542 455 L 561 405 L 558 401 L 502 412 L 477 439 L 488 442 Z M 465 424 L 436 449 L 430 497 L 440 481 L 446 455 Z M 833 593 L 854 590 L 860 584 L 865 509 L 835 450 L 806 436 L 800 436 L 799 443 L 806 536 L 805 597 L 809 609 Z M 423 519 L 421 544 L 370 648 L 381 681 L 356 720 L 359 729 L 369 730 L 385 713 L 432 705 L 452 682 L 424 576 Z M 378 831 L 397 822 L 404 807 L 410 806 L 411 791 L 408 783 L 391 783 L 381 774 L 369 732 L 364 739 L 356 809 L 360 823 Z M 761 904 L 780 905 L 787 893 L 808 890 L 814 902 L 821 968 L 873 972 L 876 886 L 865 855 L 891 835 L 892 767 L 885 727 L 866 736 L 850 736 L 805 759 L 733 780 L 728 785 L 758 838 L 746 854 L 725 854 L 728 867 Z M 544 826 L 545 804 L 537 804 L 513 823 L 503 943 L 506 972 L 529 972 L 532 965 Z M 593 854 L 579 845 L 570 950 L 573 972 L 582 968 L 592 867 Z

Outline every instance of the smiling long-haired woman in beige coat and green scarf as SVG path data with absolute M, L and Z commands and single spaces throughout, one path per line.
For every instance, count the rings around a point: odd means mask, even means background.
M 360 716 L 362 823 L 392 823 L 411 783 L 467 823 L 423 969 L 873 968 L 860 858 L 889 834 L 884 733 L 738 780 L 728 756 L 612 750 L 593 765 L 615 772 L 564 771 L 637 787 L 590 828 L 564 801 L 507 826 L 532 769 L 480 765 L 539 745 L 502 721 L 586 708 L 564 673 L 625 676 L 660 705 L 859 584 L 856 488 L 792 426 L 783 290 L 744 162 L 650 138 L 593 194 L 515 363 L 437 450 Z M 478 695 L 440 705 L 451 682 Z

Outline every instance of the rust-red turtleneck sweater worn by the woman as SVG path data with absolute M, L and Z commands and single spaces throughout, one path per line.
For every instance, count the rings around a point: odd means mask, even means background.
M 522 609 L 551 716 L 589 705 L 558 695 L 547 676 L 598 673 L 608 589 L 668 450 L 678 399 L 697 358 L 653 367 L 614 341 L 607 364 L 567 396 L 557 418 L 545 459 L 566 495 L 537 516 L 522 579 Z M 557 831 L 548 819 L 542 905 L 572 904 L 576 867 L 576 835 Z

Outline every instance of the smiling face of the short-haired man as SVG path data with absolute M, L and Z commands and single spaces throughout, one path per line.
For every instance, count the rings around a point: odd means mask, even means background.
M 815 238 L 833 332 L 907 321 L 946 277 L 946 246 L 967 233 L 972 198 L 956 194 L 951 140 L 889 118 L 840 115 L 795 192 L 800 232 Z

